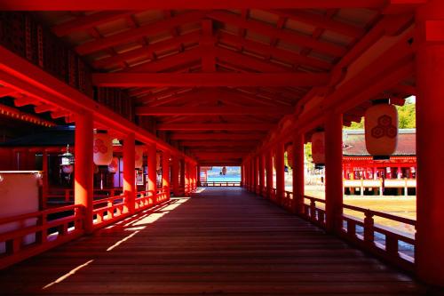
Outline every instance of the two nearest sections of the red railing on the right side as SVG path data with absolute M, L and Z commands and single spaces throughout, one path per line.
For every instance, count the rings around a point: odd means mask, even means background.
M 325 200 L 311 196 L 305 196 L 305 200 L 309 201 L 309 204 L 304 204 L 303 215 L 305 218 L 312 221 L 313 224 L 325 228 L 325 210 L 316 206 L 316 203 L 325 204 Z M 416 226 L 416 220 L 348 204 L 344 204 L 344 209 L 361 212 L 363 218 L 343 214 L 341 236 L 362 249 L 399 265 L 401 268 L 414 269 L 415 236 L 401 233 L 394 228 L 377 225 L 374 218 L 380 217 L 413 227 Z

